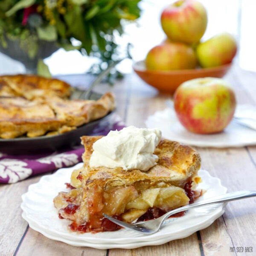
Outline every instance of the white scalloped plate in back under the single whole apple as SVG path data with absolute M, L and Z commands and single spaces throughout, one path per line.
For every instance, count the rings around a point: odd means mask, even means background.
M 256 145 L 256 131 L 234 120 L 218 134 L 191 133 L 180 124 L 172 108 L 166 108 L 148 116 L 145 124 L 147 128 L 159 128 L 162 136 L 168 140 L 192 146 L 227 148 Z

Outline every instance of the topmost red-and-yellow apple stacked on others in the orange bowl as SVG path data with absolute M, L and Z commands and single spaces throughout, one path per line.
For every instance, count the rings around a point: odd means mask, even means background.
M 196 0 L 179 0 L 163 10 L 161 24 L 170 40 L 197 43 L 207 27 L 207 12 Z

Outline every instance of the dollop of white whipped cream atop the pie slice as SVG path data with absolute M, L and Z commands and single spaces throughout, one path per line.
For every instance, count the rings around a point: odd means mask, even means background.
M 129 126 L 121 131 L 110 131 L 93 143 L 90 167 L 122 167 L 124 170 L 148 171 L 156 165 L 155 148 L 161 139 L 159 129 Z

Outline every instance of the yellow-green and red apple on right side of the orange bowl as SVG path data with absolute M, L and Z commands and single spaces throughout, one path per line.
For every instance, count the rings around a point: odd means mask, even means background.
M 236 40 L 233 36 L 222 33 L 199 44 L 196 54 L 201 67 L 217 67 L 230 63 L 236 51 Z

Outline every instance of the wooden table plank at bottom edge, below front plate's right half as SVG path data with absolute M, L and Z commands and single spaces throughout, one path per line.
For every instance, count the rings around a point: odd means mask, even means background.
M 161 255 L 161 256 L 186 256 L 201 255 L 200 248 L 198 244 L 198 237 L 196 233 L 193 235 L 179 239 L 175 241 L 170 241 L 169 243 L 157 245 L 157 246 L 145 246 L 131 250 L 125 249 L 110 249 L 108 256 L 148 256 L 148 255 Z

